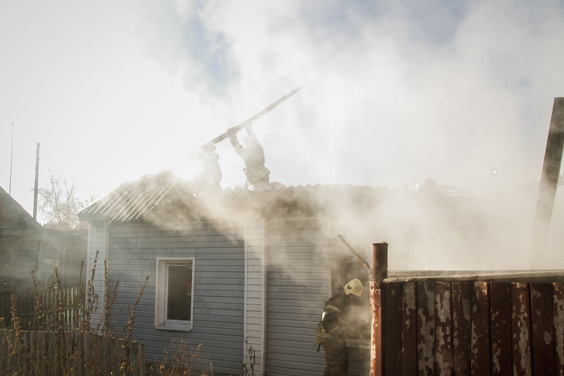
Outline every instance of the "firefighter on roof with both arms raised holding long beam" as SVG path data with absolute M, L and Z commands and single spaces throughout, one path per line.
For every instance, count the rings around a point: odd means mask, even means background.
M 237 135 L 232 133 L 229 135 L 233 148 L 245 162 L 245 175 L 249 184 L 253 185 L 253 189 L 263 189 L 268 187 L 270 182 L 270 171 L 265 167 L 265 151 L 261 144 L 258 143 L 257 136 L 254 135 L 252 123 L 246 126 L 247 136 L 245 137 L 245 147 L 241 146 L 237 140 Z

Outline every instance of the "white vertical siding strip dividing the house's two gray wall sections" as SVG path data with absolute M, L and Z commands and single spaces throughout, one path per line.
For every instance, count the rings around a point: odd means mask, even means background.
M 263 374 L 263 342 L 265 335 L 265 227 L 264 221 L 248 220 L 245 226 L 245 362 L 250 370 L 248 350 L 254 351 L 254 375 Z

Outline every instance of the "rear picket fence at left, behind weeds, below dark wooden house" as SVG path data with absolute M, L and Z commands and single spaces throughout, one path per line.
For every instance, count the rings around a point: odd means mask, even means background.
M 10 300 L 16 298 L 16 316 L 22 330 L 73 331 L 82 314 L 82 299 L 78 287 L 48 287 L 34 291 L 0 292 L 0 317 L 6 326 L 11 325 Z M 37 306 L 37 302 L 39 306 Z

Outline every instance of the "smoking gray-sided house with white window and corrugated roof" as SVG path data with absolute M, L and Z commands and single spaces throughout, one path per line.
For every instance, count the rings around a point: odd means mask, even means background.
M 120 283 L 112 312 L 133 304 L 149 276 L 133 330 L 147 361 L 183 340 L 201 344 L 214 374 L 241 374 L 252 347 L 255 374 L 318 375 L 325 301 L 351 278 L 369 278 L 337 231 L 381 241 L 387 228 L 406 227 L 409 205 L 393 202 L 413 194 L 337 184 L 207 195 L 165 172 L 122 184 L 78 216 L 90 222 L 89 269 L 99 251 L 96 292 L 103 297 L 102 258 L 109 285 Z M 370 259 L 365 245 L 358 251 Z M 349 340 L 354 375 L 368 367 L 368 305 L 364 312 L 366 330 Z M 112 316 L 115 328 L 125 323 L 123 312 Z

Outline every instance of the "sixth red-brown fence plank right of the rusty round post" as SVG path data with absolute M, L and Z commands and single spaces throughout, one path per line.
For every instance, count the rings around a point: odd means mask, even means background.
M 491 374 L 490 291 L 488 282 L 474 282 L 472 298 L 470 369 L 473 376 L 486 376 Z

